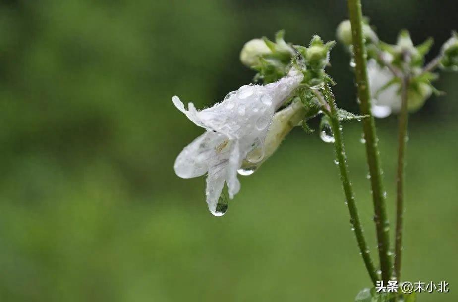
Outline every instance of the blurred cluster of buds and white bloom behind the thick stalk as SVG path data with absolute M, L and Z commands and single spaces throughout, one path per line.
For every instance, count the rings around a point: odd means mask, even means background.
M 433 94 L 439 93 L 431 84 L 437 78 L 432 73 L 437 66 L 443 69 L 458 69 L 458 39 L 454 33 L 442 47 L 440 56 L 425 66 L 425 55 L 431 49 L 433 40 L 427 39 L 415 46 L 407 30 L 402 30 L 394 45 L 382 42 L 365 20 L 363 35 L 367 47 L 367 72 L 372 94 L 372 112 L 383 118 L 401 110 L 401 85 L 408 78 L 408 110 L 415 111 L 423 106 Z M 338 39 L 351 51 L 351 24 L 343 21 L 337 29 Z

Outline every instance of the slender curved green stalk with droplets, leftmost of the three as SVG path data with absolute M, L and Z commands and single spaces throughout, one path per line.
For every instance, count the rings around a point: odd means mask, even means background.
M 363 258 L 364 264 L 366 265 L 367 272 L 369 273 L 369 276 L 375 285 L 376 281 L 379 280 L 379 277 L 376 273 L 374 262 L 372 261 L 371 255 L 369 253 L 369 248 L 364 237 L 364 230 L 359 219 L 358 209 L 356 207 L 356 201 L 353 193 L 353 187 L 351 185 L 351 181 L 348 175 L 343 133 L 339 118 L 337 116 L 337 106 L 332 95 L 332 92 L 330 91 L 327 85 L 325 85 L 325 97 L 330 107 L 331 128 L 334 134 L 334 151 L 336 153 L 336 158 L 339 162 L 339 172 L 344 187 L 346 204 L 348 206 L 348 211 L 350 212 L 350 222 L 356 235 L 356 241 L 358 242 L 360 254 Z

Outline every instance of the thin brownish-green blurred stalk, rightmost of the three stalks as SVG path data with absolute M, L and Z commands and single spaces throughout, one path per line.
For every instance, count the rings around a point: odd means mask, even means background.
M 408 124 L 408 85 L 409 79 L 402 79 L 402 103 L 399 114 L 398 132 L 398 169 L 396 175 L 396 237 L 395 237 L 395 276 L 399 280 L 401 276 L 402 256 L 402 226 L 404 215 L 404 171 L 405 149 L 407 147 L 407 124 Z

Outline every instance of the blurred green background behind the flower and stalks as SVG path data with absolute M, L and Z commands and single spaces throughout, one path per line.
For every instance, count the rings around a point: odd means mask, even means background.
M 365 0 L 380 37 L 457 29 L 456 0 Z M 286 30 L 335 39 L 344 0 L 3 0 L 0 4 L 0 301 L 353 301 L 370 282 L 332 146 L 295 130 L 213 217 L 204 177 L 173 161 L 202 133 L 172 105 L 198 108 L 251 81 L 244 42 Z M 329 73 L 357 111 L 348 55 Z M 457 74 L 412 115 L 403 276 L 445 280 L 458 300 Z M 313 124 L 313 123 L 312 123 Z M 396 118 L 378 120 L 391 217 Z M 345 124 L 350 172 L 375 257 L 361 125 Z

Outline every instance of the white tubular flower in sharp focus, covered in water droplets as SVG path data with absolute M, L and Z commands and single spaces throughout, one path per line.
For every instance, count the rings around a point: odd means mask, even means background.
M 275 111 L 303 79 L 292 70 L 280 81 L 266 86 L 245 85 L 230 92 L 221 103 L 198 111 L 188 103 L 188 110 L 177 96 L 173 104 L 189 120 L 207 131 L 186 146 L 175 160 L 176 175 L 193 178 L 207 174 L 205 191 L 209 210 L 215 216 L 218 199 L 227 183 L 229 198 L 240 190 L 237 170 L 243 160 L 259 162 L 264 158 L 264 140 Z M 252 152 L 253 150 L 260 152 Z M 255 154 L 247 156 L 248 153 Z

